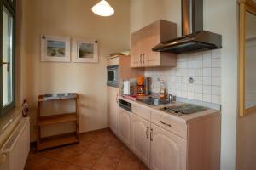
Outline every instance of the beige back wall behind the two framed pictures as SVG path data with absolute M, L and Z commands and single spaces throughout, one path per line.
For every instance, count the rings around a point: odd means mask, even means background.
M 31 106 L 32 129 L 38 94 L 80 94 L 80 132 L 107 127 L 106 56 L 129 48 L 129 1 L 109 0 L 115 14 L 91 12 L 97 0 L 24 0 L 26 45 L 25 98 Z M 69 36 L 99 42 L 99 63 L 40 62 L 40 35 Z M 35 133 L 32 132 L 32 138 Z

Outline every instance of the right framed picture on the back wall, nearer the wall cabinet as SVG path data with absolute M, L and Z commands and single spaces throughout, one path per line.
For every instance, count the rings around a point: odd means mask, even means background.
M 73 38 L 73 62 L 97 63 L 98 61 L 98 43 L 96 41 Z

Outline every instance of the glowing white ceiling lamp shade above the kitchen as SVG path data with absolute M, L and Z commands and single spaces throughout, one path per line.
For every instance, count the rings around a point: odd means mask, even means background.
M 97 14 L 100 16 L 111 16 L 114 13 L 113 8 L 105 0 L 102 0 L 99 3 L 96 3 L 96 5 L 94 5 L 91 8 L 91 10 L 94 14 Z

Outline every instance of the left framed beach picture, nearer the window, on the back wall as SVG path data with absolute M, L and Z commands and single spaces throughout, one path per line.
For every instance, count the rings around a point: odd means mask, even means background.
M 70 38 L 41 36 L 41 61 L 70 62 Z

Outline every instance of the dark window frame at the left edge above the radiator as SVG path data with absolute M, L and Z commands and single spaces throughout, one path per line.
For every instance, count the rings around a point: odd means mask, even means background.
M 13 2 L 11 2 L 11 0 L 0 0 L 0 9 L 1 9 L 1 13 L 0 13 L 0 22 L 3 23 L 3 6 L 5 8 L 7 8 L 7 10 L 9 11 L 9 13 L 13 16 L 13 31 L 12 31 L 12 35 L 13 35 L 13 48 L 12 48 L 12 61 L 13 61 L 13 66 L 12 66 L 12 90 L 13 90 L 13 96 L 12 99 L 13 101 L 9 104 L 3 107 L 3 69 L 2 67 L 0 67 L 0 79 L 1 79 L 1 83 L 0 83 L 0 117 L 6 115 L 9 111 L 11 111 L 12 109 L 15 108 L 15 21 L 16 21 L 16 16 L 15 16 L 15 3 L 16 1 L 13 0 Z M 3 42 L 3 26 L 1 26 L 0 28 L 0 41 Z M 3 59 L 3 46 L 0 46 L 0 59 Z

